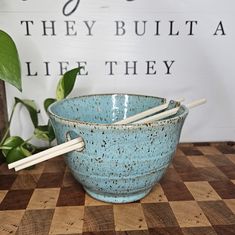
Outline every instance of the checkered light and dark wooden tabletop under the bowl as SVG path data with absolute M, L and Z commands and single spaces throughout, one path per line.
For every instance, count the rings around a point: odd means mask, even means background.
M 151 193 L 129 204 L 89 197 L 62 158 L 14 173 L 0 165 L 3 234 L 235 234 L 235 145 L 181 144 Z

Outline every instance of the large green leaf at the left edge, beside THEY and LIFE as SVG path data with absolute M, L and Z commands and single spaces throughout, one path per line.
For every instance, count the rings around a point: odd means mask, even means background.
M 0 79 L 22 91 L 20 59 L 12 38 L 0 30 Z

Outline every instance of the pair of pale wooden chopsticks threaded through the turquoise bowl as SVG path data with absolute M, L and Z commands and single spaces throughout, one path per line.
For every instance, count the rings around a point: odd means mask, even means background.
M 178 102 L 183 102 L 184 99 L 180 98 L 176 100 Z M 186 105 L 187 108 L 194 108 L 198 105 L 204 104 L 206 102 L 206 99 L 199 99 L 195 100 L 189 104 Z M 157 120 L 161 120 L 163 118 L 171 117 L 175 115 L 178 110 L 180 109 L 180 105 L 166 110 L 170 104 L 170 101 L 166 102 L 165 104 L 156 106 L 154 108 L 148 109 L 144 112 L 138 113 L 136 115 L 130 116 L 126 119 L 123 119 L 121 121 L 115 122 L 114 124 L 120 125 L 120 124 L 146 124 L 146 123 L 152 123 Z M 165 111 L 164 111 L 165 110 Z M 163 112 L 161 112 L 163 111 Z M 84 149 L 84 141 L 81 137 L 75 138 L 73 140 L 67 141 L 63 144 L 57 145 L 53 148 L 47 149 L 45 151 L 42 151 L 40 153 L 36 153 L 34 155 L 31 155 L 27 158 L 21 159 L 17 162 L 13 162 L 8 165 L 9 169 L 15 168 L 15 171 L 19 171 L 22 169 L 25 169 L 27 167 L 33 166 L 35 164 L 38 164 L 40 162 L 49 160 L 51 158 L 60 156 L 62 154 L 77 150 L 82 151 Z

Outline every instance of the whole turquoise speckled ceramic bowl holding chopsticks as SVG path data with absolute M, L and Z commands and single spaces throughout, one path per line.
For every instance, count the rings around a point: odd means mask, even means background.
M 132 202 L 161 179 L 188 109 L 181 106 L 173 117 L 148 125 L 112 123 L 164 102 L 158 97 L 112 94 L 65 99 L 49 107 L 58 144 L 68 135 L 84 140 L 84 150 L 68 153 L 65 161 L 88 194 L 106 202 Z

